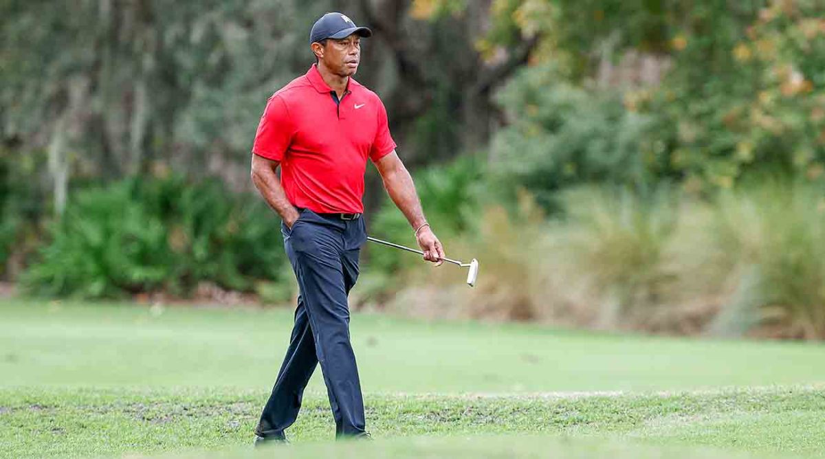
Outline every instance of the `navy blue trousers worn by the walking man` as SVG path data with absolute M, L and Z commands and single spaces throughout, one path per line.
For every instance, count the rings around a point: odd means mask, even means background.
M 361 435 L 364 400 L 350 344 L 347 296 L 358 279 L 358 256 L 366 241 L 364 219 L 344 221 L 304 209 L 291 230 L 281 223 L 281 234 L 300 292 L 290 346 L 255 433 L 284 437 L 320 363 L 336 436 Z

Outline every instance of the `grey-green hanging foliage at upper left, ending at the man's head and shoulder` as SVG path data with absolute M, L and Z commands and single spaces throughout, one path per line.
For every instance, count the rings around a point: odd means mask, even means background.
M 172 151 L 247 152 L 266 97 L 311 62 L 293 30 L 330 6 L 3 2 L 0 133 L 32 148 L 65 130 L 73 163 L 107 178 Z

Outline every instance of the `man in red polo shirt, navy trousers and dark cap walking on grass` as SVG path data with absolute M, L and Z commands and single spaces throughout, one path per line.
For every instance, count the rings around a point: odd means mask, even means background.
M 252 181 L 281 215 L 286 254 L 300 293 L 281 371 L 257 425 L 255 444 L 285 441 L 304 387 L 321 364 L 336 437 L 367 437 L 347 295 L 366 241 L 364 172 L 369 158 L 413 227 L 424 259 L 441 265 L 441 242 L 424 218 L 413 179 L 395 152 L 384 104 L 352 75 L 370 29 L 341 13 L 315 22 L 317 62 L 266 104 L 252 147 Z M 281 166 L 281 178 L 276 169 Z

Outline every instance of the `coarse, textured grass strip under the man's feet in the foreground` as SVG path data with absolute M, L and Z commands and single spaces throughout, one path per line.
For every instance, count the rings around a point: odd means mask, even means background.
M 90 457 L 222 450 L 250 442 L 265 391 L 4 389 L 2 457 Z M 733 452 L 825 452 L 822 387 L 601 396 L 367 396 L 376 438 L 543 435 Z M 332 439 L 312 396 L 290 438 Z M 312 449 L 312 448 L 310 448 Z M 529 449 L 529 448 L 528 448 Z M 439 451 L 437 448 L 436 452 Z M 540 450 L 535 451 L 540 452 Z

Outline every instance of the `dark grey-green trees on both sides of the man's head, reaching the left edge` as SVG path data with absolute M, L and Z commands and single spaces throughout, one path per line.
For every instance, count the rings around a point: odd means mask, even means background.
M 487 108 L 515 66 L 479 58 L 486 7 L 466 0 L 8 0 L 0 142 L 60 146 L 72 179 L 161 164 L 238 183 L 266 97 L 313 62 L 309 27 L 333 10 L 376 32 L 358 78 L 382 96 L 406 157 L 449 161 L 465 140 L 486 142 L 494 111 L 468 107 Z

